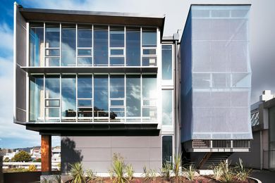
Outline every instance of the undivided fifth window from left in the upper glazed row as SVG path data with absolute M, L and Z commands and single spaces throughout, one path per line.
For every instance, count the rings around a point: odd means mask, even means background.
M 108 26 L 94 26 L 94 66 L 108 65 Z

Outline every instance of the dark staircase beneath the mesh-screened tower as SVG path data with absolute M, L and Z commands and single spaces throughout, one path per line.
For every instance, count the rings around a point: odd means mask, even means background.
M 204 160 L 203 163 L 200 163 L 200 167 L 197 167 L 200 170 L 209 169 L 211 166 L 218 165 L 221 161 L 226 160 L 229 156 L 231 156 L 231 152 L 228 153 L 206 153 L 204 157 L 207 159 Z

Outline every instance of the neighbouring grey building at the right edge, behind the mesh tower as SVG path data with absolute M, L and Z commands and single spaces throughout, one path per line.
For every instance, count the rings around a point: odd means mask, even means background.
M 250 153 L 234 153 L 230 156 L 232 162 L 242 158 L 250 168 L 274 170 L 274 116 L 275 99 L 270 90 L 264 90 L 259 96 L 259 101 L 251 106 L 251 125 L 253 140 Z

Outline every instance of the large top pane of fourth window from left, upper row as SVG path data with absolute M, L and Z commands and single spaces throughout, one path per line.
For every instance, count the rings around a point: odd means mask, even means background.
M 78 25 L 78 47 L 92 47 L 92 25 Z

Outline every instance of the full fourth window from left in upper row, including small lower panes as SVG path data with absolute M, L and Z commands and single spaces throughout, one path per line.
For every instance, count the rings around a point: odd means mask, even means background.
M 92 65 L 92 25 L 78 25 L 78 65 Z

